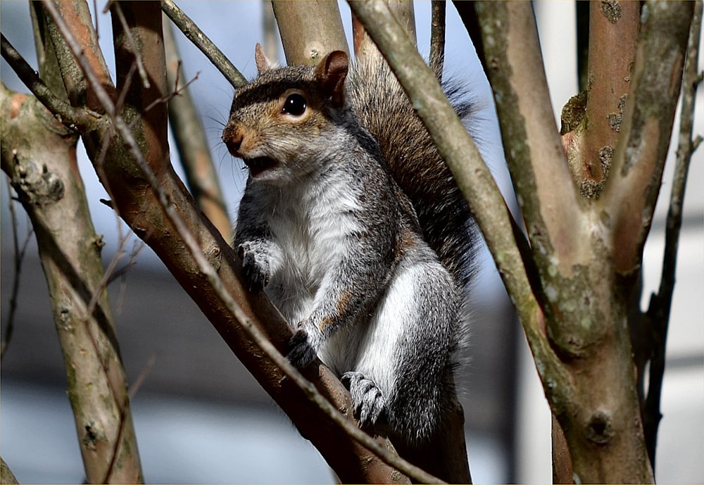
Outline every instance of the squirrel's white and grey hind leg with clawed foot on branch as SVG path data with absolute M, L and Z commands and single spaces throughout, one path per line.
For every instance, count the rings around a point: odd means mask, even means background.
M 452 285 L 432 258 L 406 260 L 396 268 L 356 365 L 344 374 L 362 426 L 383 417 L 409 443 L 438 429 L 457 317 Z

